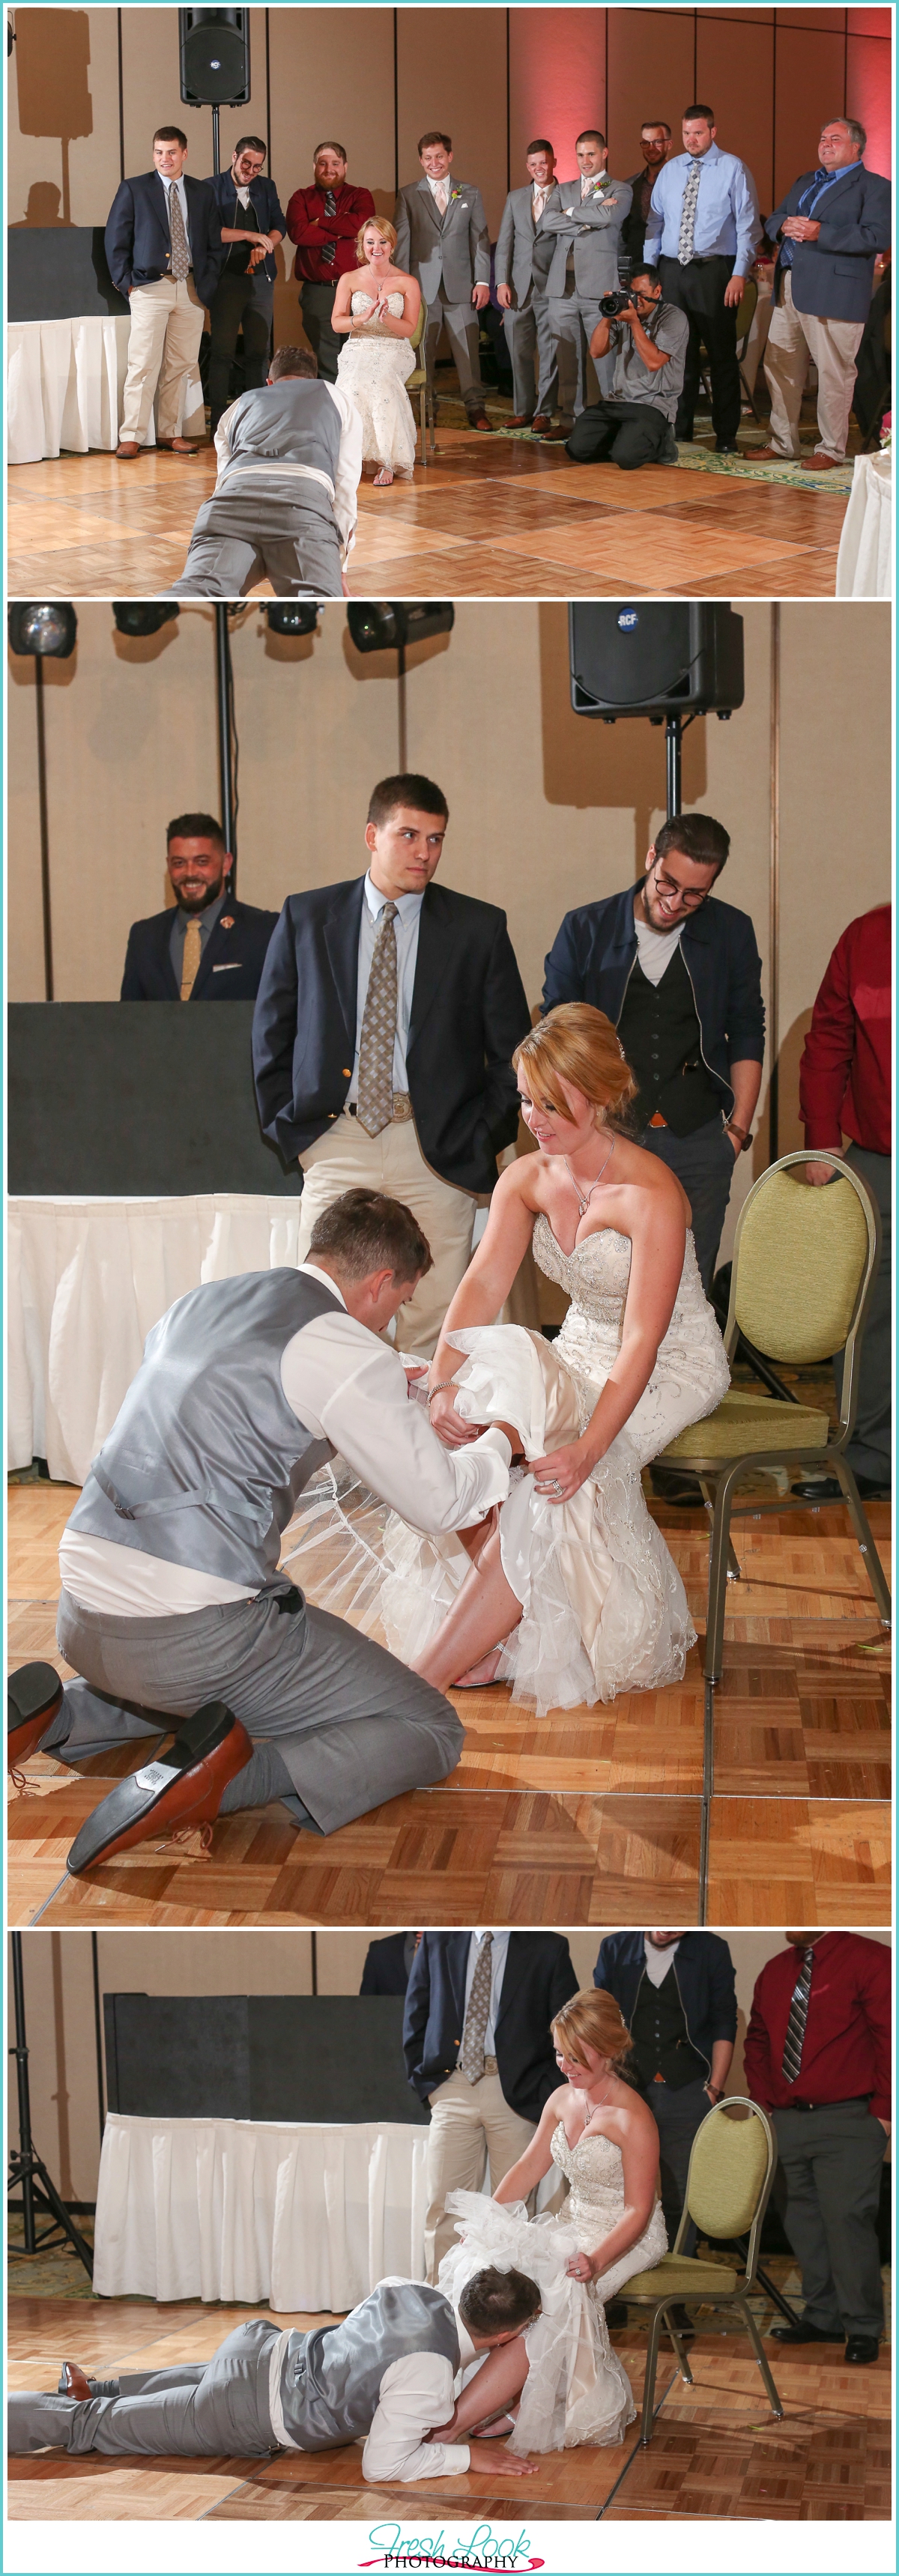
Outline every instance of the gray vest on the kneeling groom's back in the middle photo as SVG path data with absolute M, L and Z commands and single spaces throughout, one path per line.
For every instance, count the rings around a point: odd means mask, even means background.
M 247 1270 L 178 1298 L 147 1334 L 70 1530 L 260 1592 L 296 1497 L 335 1455 L 281 1386 L 286 1345 L 319 1314 L 343 1306 L 296 1270 Z

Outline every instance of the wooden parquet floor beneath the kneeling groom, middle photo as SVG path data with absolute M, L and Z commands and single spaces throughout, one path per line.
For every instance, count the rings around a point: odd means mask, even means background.
M 57 1543 L 72 1486 L 10 1486 L 10 1662 L 57 1662 Z M 654 1504 L 696 1625 L 706 1530 Z M 889 1504 L 871 1507 L 889 1561 Z M 889 1643 L 842 1507 L 734 1525 L 744 1579 L 729 1587 L 711 1924 L 889 1922 Z M 374 1808 L 322 1842 L 270 1806 L 180 1847 L 149 1839 L 67 1878 L 67 1850 L 111 1777 L 144 1754 L 77 1772 L 36 1754 L 10 1793 L 13 1924 L 670 1924 L 698 1914 L 703 1677 L 610 1708 L 515 1708 L 461 1692 L 466 1747 L 433 1790 Z

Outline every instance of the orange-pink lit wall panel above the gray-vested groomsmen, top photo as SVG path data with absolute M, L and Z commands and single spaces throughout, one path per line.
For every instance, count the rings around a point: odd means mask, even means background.
M 574 139 L 582 126 L 600 126 L 605 134 L 605 18 L 603 8 L 513 8 L 513 185 L 525 175 L 523 160 L 536 134 L 554 144 L 562 178 L 577 167 Z

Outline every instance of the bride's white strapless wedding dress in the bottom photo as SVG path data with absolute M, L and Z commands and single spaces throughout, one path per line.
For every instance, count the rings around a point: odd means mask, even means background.
M 438 2287 L 459 2303 L 464 2282 L 482 2264 L 515 2267 L 536 2280 L 544 2313 L 528 2326 L 528 2378 L 515 2452 L 574 2450 L 580 2442 L 621 2442 L 634 2424 L 634 2396 L 608 2342 L 605 2300 L 618 2298 L 634 2272 L 667 2254 L 659 2202 L 636 2246 L 595 2282 L 572 2280 L 572 2254 L 595 2254 L 623 2215 L 621 2148 L 600 2136 L 569 2146 L 559 2120 L 551 2156 L 569 2184 L 559 2218 L 528 2218 L 523 2200 L 500 2208 L 477 2192 L 451 2192 L 461 2244 L 440 2262 Z

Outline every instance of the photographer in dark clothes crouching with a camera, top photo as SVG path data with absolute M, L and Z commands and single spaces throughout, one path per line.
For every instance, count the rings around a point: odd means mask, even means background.
M 616 376 L 608 402 L 590 402 L 574 420 L 564 453 L 580 466 L 608 459 L 623 474 L 636 466 L 677 464 L 675 412 L 688 355 L 688 317 L 662 304 L 657 268 L 636 268 L 631 286 L 600 296 L 590 358 L 613 350 Z

